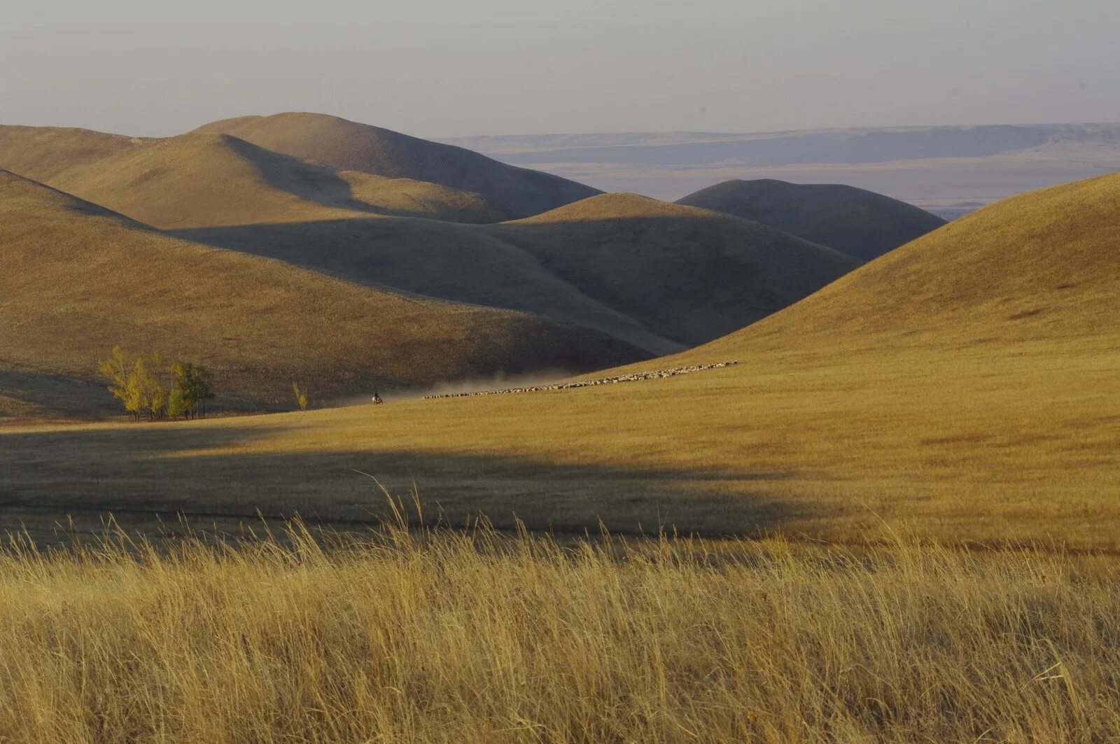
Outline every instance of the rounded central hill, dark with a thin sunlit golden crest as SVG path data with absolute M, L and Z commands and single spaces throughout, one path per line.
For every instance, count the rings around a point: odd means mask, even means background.
M 687 345 L 754 323 L 860 264 L 765 225 L 634 194 L 485 230 Z

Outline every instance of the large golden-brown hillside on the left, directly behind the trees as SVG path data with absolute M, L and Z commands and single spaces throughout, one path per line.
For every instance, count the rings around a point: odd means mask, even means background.
M 643 356 L 553 320 L 174 239 L 4 171 L 0 252 L 0 313 L 12 319 L 0 326 L 7 412 L 96 409 L 108 393 L 83 379 L 118 343 L 203 357 L 224 402 L 254 406 L 284 401 L 292 380 L 326 402 L 379 385 Z M 50 385 L 65 394 L 55 399 Z

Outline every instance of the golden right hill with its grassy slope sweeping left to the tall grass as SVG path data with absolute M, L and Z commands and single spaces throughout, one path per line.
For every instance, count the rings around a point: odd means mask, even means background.
M 452 523 L 913 530 L 1120 550 L 1120 175 L 1026 194 L 759 323 L 578 390 L 148 426 L 9 429 L 19 503 L 364 519 L 414 482 Z M 230 440 L 234 444 L 228 444 Z M 130 456 L 143 441 L 144 458 Z M 105 465 L 110 463 L 111 465 Z M 198 473 L 175 495 L 134 485 Z M 179 471 L 172 471 L 179 472 Z M 88 474 L 96 473 L 96 481 Z

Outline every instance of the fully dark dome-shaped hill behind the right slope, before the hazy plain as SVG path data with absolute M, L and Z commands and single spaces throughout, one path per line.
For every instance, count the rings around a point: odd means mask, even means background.
M 839 184 L 726 180 L 678 204 L 734 214 L 870 261 L 945 224 L 889 196 Z

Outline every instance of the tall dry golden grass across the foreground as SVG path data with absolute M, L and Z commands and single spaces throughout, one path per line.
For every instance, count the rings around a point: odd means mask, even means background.
M 298 527 L 0 557 L 4 741 L 1100 741 L 1114 564 Z

